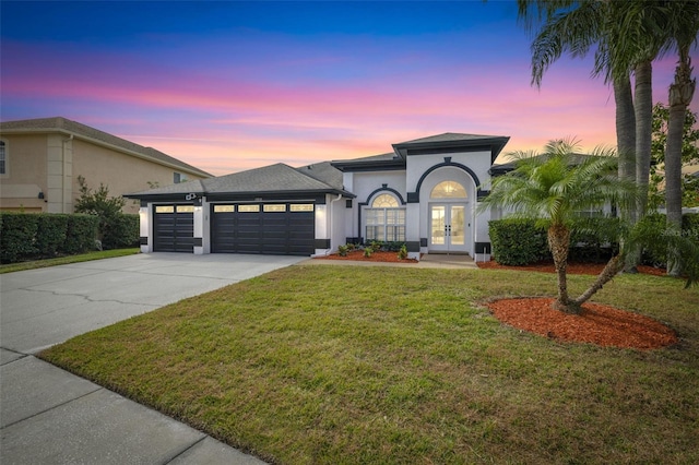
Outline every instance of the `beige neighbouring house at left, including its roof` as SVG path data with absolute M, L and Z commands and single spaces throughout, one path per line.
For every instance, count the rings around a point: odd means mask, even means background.
M 73 213 L 78 177 L 110 196 L 210 178 L 211 175 L 155 148 L 66 118 L 0 123 L 0 210 Z M 137 213 L 128 202 L 125 213 Z

